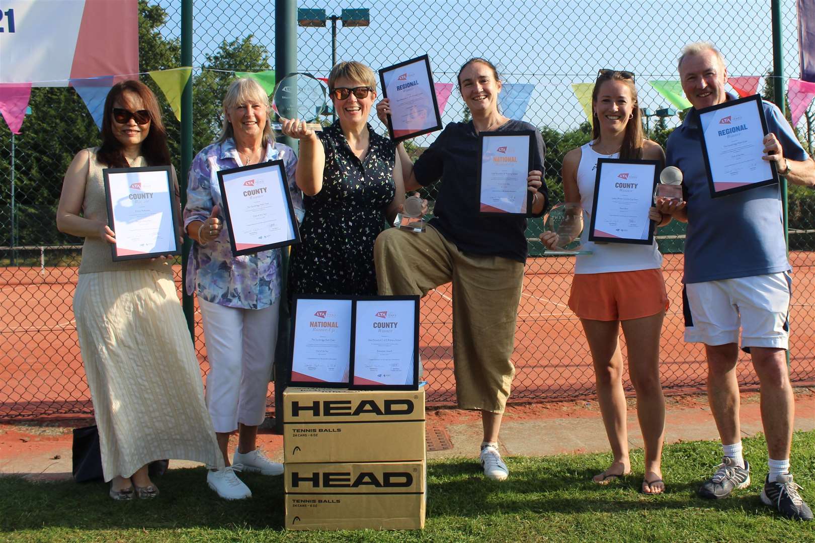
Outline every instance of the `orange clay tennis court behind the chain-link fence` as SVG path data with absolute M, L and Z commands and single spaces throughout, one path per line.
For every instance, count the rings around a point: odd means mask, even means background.
M 795 267 L 791 374 L 795 382 L 813 383 L 815 292 L 796 289 L 795 278 L 800 278 L 799 285 L 808 284 L 815 253 L 791 253 L 791 262 Z M 180 282 L 180 267 L 175 268 Z M 513 356 L 515 401 L 593 394 L 588 346 L 579 320 L 566 307 L 572 269 L 569 257 L 527 261 Z M 671 303 L 661 342 L 663 386 L 699 390 L 705 380 L 702 349 L 682 340 L 682 255 L 666 255 L 663 273 Z M 11 267 L 0 272 L 0 417 L 91 411 L 72 310 L 76 280 L 77 268 L 70 266 Z M 455 401 L 450 300 L 448 284 L 430 291 L 421 304 L 421 358 L 432 403 Z M 196 311 L 196 350 L 203 374 L 208 366 L 202 338 Z M 740 364 L 739 381 L 755 386 L 749 364 Z

